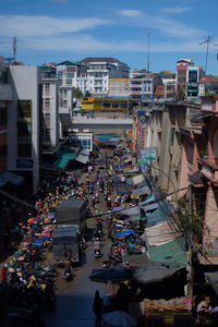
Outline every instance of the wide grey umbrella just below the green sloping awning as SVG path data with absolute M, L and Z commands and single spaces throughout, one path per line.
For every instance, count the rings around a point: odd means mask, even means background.
M 148 262 L 132 268 L 131 275 L 133 281 L 146 284 L 171 277 L 178 268 L 177 263 Z

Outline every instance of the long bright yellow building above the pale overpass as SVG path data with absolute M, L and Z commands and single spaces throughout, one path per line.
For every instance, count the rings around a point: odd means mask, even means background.
M 110 98 L 83 98 L 82 110 L 84 111 L 121 111 L 125 112 L 129 108 L 129 99 Z

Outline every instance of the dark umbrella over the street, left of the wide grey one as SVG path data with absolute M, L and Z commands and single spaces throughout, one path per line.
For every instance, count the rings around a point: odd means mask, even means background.
M 123 281 L 130 279 L 130 270 L 121 267 L 93 269 L 89 279 L 93 281 Z

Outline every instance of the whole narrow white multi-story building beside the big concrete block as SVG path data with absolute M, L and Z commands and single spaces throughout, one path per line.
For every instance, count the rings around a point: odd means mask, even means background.
M 59 143 L 59 81 L 56 70 L 41 66 L 43 147 L 56 148 Z

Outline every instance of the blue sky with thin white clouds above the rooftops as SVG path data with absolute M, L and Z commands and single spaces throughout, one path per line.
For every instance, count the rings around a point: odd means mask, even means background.
M 217 0 L 0 0 L 0 55 L 26 64 L 114 57 L 132 69 L 175 71 L 177 61 L 191 58 L 218 75 Z M 217 44 L 217 46 L 216 46 Z

